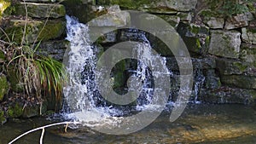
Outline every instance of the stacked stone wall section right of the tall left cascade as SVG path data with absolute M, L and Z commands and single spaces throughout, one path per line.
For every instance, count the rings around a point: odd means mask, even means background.
M 219 3 L 207 0 L 98 0 L 96 5 L 88 6 L 90 10 L 86 19 L 88 21 L 93 16 L 107 13 L 109 6 L 113 5 L 124 10 L 135 9 L 156 14 L 177 30 L 192 56 L 194 89 L 199 91 L 193 91 L 191 101 L 195 101 L 196 95 L 196 101 L 253 104 L 256 98 L 256 53 L 253 52 L 256 48 L 256 3 L 240 1 L 230 5 L 224 3 L 223 6 Z M 75 16 L 80 21 L 86 21 L 79 15 Z M 100 27 L 108 27 L 108 24 L 109 21 L 104 21 Z M 106 34 L 98 43 L 106 48 L 114 43 L 131 40 L 131 37 L 122 36 L 138 34 L 118 30 Z M 155 37 L 148 36 L 148 39 L 154 49 L 168 57 L 167 65 L 175 72 L 177 66 L 172 66 L 175 63 L 172 53 L 166 51 L 165 45 Z M 172 99 L 175 99 L 176 92 L 173 92 Z

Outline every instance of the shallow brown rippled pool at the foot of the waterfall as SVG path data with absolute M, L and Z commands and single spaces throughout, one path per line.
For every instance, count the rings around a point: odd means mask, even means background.
M 256 143 L 256 111 L 241 105 L 190 105 L 182 117 L 169 122 L 167 110 L 147 128 L 131 135 L 105 135 L 89 128 L 67 130 L 63 126 L 46 129 L 44 143 Z M 11 120 L 0 126 L 0 144 L 26 130 L 55 123 L 46 118 Z M 21 138 L 17 143 L 38 143 L 41 132 Z

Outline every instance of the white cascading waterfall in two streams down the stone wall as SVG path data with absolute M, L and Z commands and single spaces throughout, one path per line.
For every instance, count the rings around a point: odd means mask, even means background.
M 64 88 L 64 95 L 68 106 L 72 113 L 69 113 L 68 118 L 84 122 L 87 126 L 96 126 L 101 124 L 114 125 L 122 121 L 124 112 L 122 109 L 115 108 L 109 105 L 97 105 L 99 102 L 104 103 L 102 96 L 97 90 L 95 82 L 96 69 L 96 47 L 92 46 L 89 37 L 88 26 L 79 23 L 72 17 L 66 16 L 67 19 L 67 40 L 70 41 L 70 49 L 66 56 L 68 57 L 65 63 L 69 74 L 69 84 Z M 150 43 L 145 34 L 142 37 L 142 43 L 137 45 L 137 54 L 140 58 L 147 58 L 148 63 L 142 61 L 137 62 L 137 70 L 133 76 L 140 78 L 143 81 L 143 89 L 141 95 L 137 98 L 137 111 L 142 111 L 150 106 L 152 107 L 152 95 L 154 93 L 154 81 L 148 66 L 153 66 L 155 70 L 158 66 L 154 66 L 154 60 L 160 60 L 163 66 L 166 66 L 166 59 L 157 55 L 154 59 Z M 172 73 L 164 68 L 164 71 L 156 72 L 156 75 L 163 73 L 171 75 Z M 158 89 L 159 90 L 159 89 Z M 166 94 L 168 95 L 168 94 Z M 167 101 L 166 101 L 167 102 Z M 148 107 L 147 107 L 148 106 Z M 118 117 L 116 117 L 118 116 Z

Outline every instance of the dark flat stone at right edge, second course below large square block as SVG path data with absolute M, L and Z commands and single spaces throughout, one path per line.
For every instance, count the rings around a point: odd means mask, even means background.
M 246 75 L 221 76 L 221 82 L 241 89 L 256 89 L 256 77 Z

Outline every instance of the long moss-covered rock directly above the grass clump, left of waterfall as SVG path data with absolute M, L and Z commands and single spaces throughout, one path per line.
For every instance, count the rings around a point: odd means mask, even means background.
M 25 24 L 26 34 L 23 37 Z M 11 20 L 5 32 L 9 37 L 14 36 L 15 43 L 21 43 L 22 38 L 26 43 L 34 43 L 61 37 L 65 27 L 66 22 L 63 20 Z

